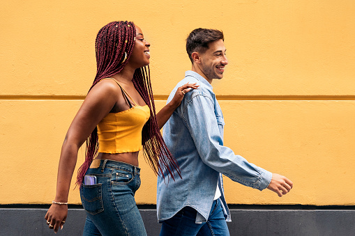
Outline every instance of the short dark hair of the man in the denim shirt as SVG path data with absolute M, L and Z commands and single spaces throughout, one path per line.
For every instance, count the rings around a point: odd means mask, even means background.
M 222 31 L 217 29 L 194 29 L 186 38 L 186 52 L 190 61 L 192 60 L 192 52 L 204 53 L 209 49 L 209 43 L 216 40 L 225 40 Z

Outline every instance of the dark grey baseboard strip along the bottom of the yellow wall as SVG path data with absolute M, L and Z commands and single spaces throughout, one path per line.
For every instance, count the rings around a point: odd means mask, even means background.
M 47 205 L 0 205 L 0 236 L 54 235 L 45 222 Z M 233 206 L 229 231 L 234 235 L 355 235 L 354 207 Z M 156 209 L 141 205 L 149 236 L 159 235 Z M 86 214 L 72 206 L 63 230 L 56 235 L 82 235 Z

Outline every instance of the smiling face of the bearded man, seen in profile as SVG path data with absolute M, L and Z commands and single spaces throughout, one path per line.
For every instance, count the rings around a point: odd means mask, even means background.
M 225 65 L 228 64 L 227 56 L 225 56 L 225 43 L 223 40 L 216 40 L 209 43 L 209 49 L 203 54 L 199 54 L 201 63 L 200 70 L 210 82 L 212 79 L 222 79 L 225 72 Z

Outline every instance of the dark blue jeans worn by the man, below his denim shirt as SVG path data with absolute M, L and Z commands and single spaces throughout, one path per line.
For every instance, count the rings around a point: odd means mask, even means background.
M 163 221 L 160 236 L 229 236 L 229 230 L 223 214 L 220 200 L 213 200 L 209 219 L 204 223 L 195 223 L 197 211 L 192 207 L 183 207 L 174 217 Z

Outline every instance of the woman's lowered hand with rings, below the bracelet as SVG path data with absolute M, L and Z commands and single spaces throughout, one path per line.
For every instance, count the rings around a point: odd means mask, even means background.
M 45 214 L 47 225 L 54 233 L 57 233 L 59 228 L 63 228 L 63 224 L 66 223 L 66 217 L 68 216 L 68 205 L 52 204 L 50 209 Z

